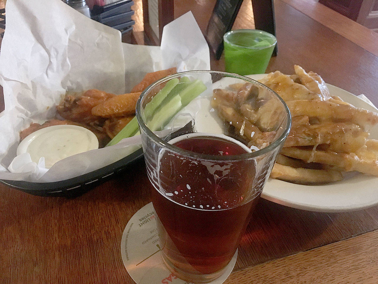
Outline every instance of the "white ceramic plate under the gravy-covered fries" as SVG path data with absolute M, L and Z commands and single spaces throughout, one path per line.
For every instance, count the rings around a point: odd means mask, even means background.
M 266 74 L 249 75 L 259 80 Z M 344 101 L 377 112 L 377 109 L 355 95 L 327 84 L 331 95 Z M 378 139 L 378 126 L 370 130 L 370 138 Z M 378 177 L 351 172 L 337 183 L 304 186 L 270 178 L 261 195 L 267 200 L 297 209 L 319 212 L 345 212 L 378 204 Z

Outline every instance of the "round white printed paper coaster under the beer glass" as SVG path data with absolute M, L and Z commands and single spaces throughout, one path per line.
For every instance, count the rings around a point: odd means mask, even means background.
M 191 284 L 177 278 L 163 262 L 152 202 L 139 209 L 127 223 L 122 234 L 121 256 L 127 272 L 137 284 Z M 209 283 L 225 282 L 234 269 L 236 258 L 237 250 L 225 273 Z

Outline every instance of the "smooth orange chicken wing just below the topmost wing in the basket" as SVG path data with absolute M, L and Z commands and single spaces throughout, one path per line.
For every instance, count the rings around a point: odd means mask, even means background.
M 92 108 L 92 114 L 101 117 L 117 117 L 135 114 L 135 106 L 141 92 L 122 94 L 109 98 Z

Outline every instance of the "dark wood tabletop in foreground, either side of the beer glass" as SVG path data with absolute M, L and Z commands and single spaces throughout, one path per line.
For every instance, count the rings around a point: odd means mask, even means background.
M 1 184 L 0 283 L 133 283 L 122 263 L 121 236 L 149 201 L 143 164 L 72 199 L 36 197 Z M 260 199 L 234 270 L 377 228 L 378 206 L 327 214 Z

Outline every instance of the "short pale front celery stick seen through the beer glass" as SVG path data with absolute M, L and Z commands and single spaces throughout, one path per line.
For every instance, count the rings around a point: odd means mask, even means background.
M 148 126 L 151 131 L 161 130 L 166 123 L 182 108 L 181 97 L 177 95 L 172 98 L 166 105 L 153 115 Z

